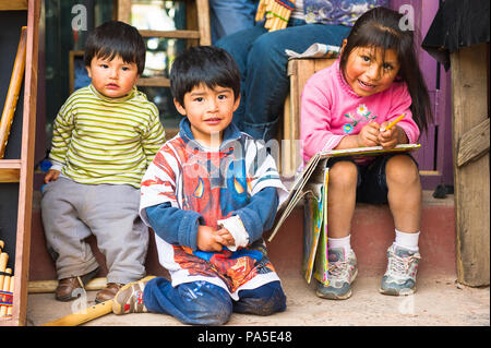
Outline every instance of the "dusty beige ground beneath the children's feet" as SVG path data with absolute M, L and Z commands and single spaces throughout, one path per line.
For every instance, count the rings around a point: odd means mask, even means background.
M 320 299 L 299 276 L 283 278 L 287 311 L 272 316 L 232 314 L 226 326 L 489 326 L 489 287 L 471 288 L 453 276 L 418 279 L 418 291 L 409 297 L 379 293 L 380 277 L 360 274 L 352 297 L 345 301 Z M 96 291 L 88 291 L 93 305 Z M 31 293 L 27 325 L 38 326 L 76 312 L 80 303 L 58 302 L 53 293 Z M 74 311 L 73 311 L 74 310 Z M 85 326 L 184 326 L 176 319 L 153 313 L 107 314 Z

